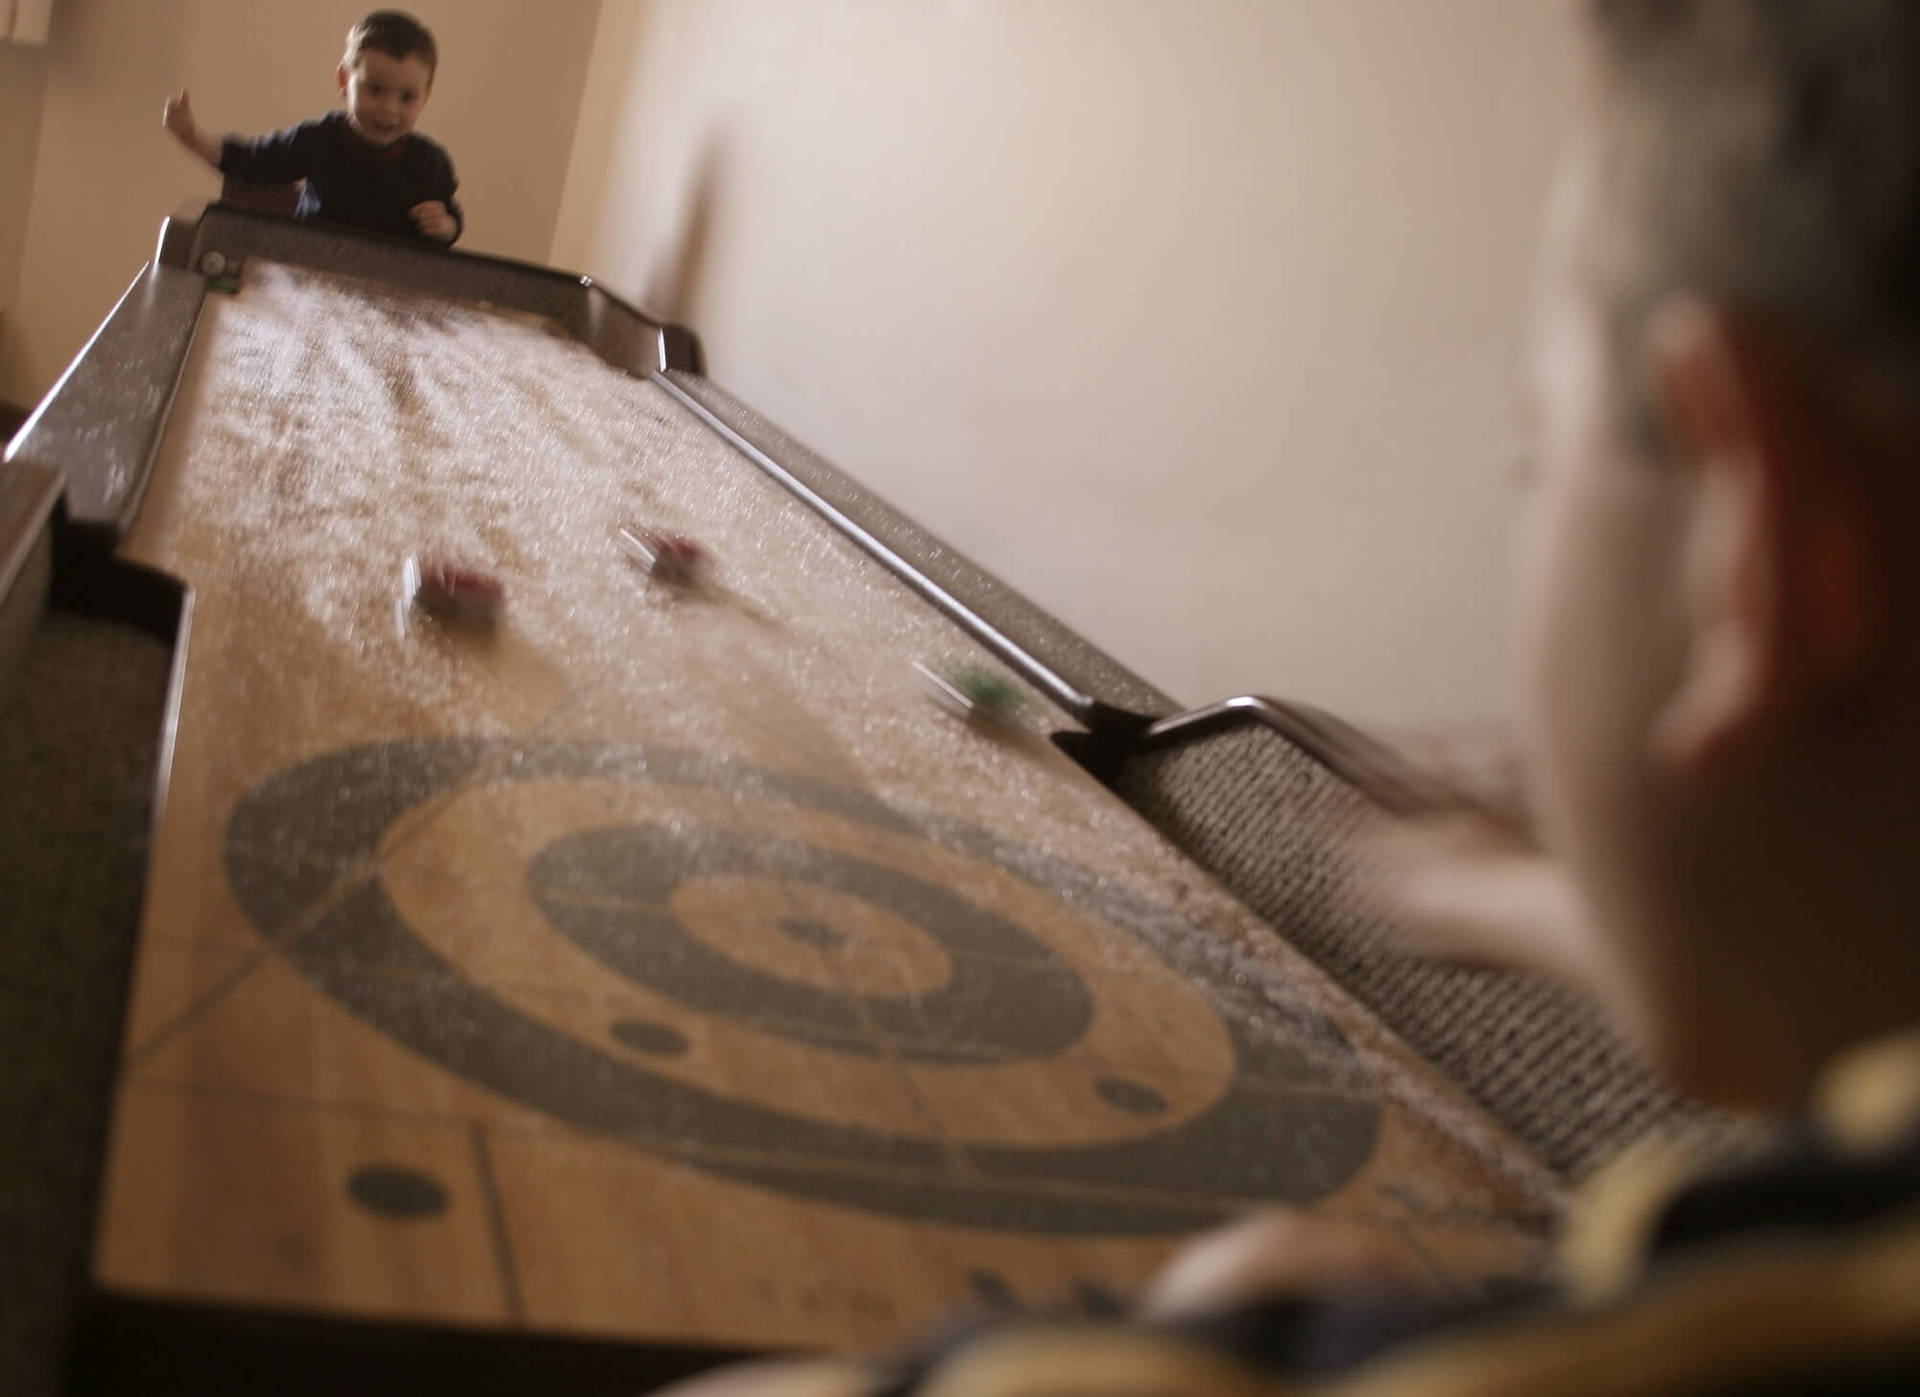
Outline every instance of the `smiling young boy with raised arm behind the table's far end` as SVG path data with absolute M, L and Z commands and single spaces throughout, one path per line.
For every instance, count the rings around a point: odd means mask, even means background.
M 434 36 L 419 19 L 376 10 L 348 33 L 334 75 L 340 111 L 271 136 L 215 140 L 196 125 L 182 90 L 167 98 L 163 119 L 175 140 L 223 175 L 259 184 L 305 180 L 301 219 L 451 244 L 465 223 L 453 200 L 453 161 L 413 130 L 438 63 Z

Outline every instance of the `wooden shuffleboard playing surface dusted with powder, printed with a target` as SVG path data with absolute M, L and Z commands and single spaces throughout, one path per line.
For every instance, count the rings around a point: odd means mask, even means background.
M 714 587 L 649 585 L 622 522 Z M 1135 1290 L 1260 1201 L 1538 1267 L 1498 1130 L 662 390 L 248 269 L 125 549 L 194 587 L 96 1278 L 647 1343 Z M 399 604 L 493 570 L 492 637 Z

